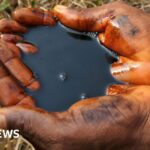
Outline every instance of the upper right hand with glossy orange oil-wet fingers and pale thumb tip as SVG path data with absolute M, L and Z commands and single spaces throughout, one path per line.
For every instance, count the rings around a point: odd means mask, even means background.
M 113 76 L 131 84 L 150 85 L 150 15 L 122 2 L 97 8 L 71 9 L 56 6 L 54 15 L 65 26 L 99 32 L 99 40 L 117 52 Z

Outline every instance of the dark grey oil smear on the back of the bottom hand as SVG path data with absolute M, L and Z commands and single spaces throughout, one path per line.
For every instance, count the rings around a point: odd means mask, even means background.
M 123 97 L 113 97 L 108 103 L 107 101 L 103 102 L 99 106 L 93 109 L 88 109 L 81 111 L 82 116 L 87 123 L 95 123 L 103 121 L 110 121 L 112 118 L 124 117 L 123 114 L 117 109 L 117 107 L 124 107 L 132 111 L 130 102 L 124 102 Z M 123 105 L 123 106 L 122 106 Z

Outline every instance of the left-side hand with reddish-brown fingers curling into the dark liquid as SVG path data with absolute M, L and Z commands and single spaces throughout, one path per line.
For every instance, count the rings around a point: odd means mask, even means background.
M 24 10 L 27 19 L 23 20 L 26 25 L 55 24 L 50 12 L 47 14 L 46 11 L 44 15 L 42 10 L 26 8 L 22 9 L 21 12 Z M 31 10 L 33 11 L 33 15 Z M 39 14 L 39 17 L 37 14 Z M 28 15 L 30 17 L 28 17 Z M 46 19 L 46 21 L 44 21 L 44 19 Z M 17 35 L 18 33 L 21 34 L 27 32 L 27 28 L 15 20 L 1 19 L 0 32 L 0 105 L 10 106 L 18 103 L 28 103 L 33 105 L 33 99 L 25 94 L 24 90 L 15 79 L 17 79 L 24 87 L 31 90 L 37 90 L 39 88 L 39 82 L 35 79 L 32 71 L 20 58 L 20 49 L 25 53 L 35 53 L 37 48 L 30 43 L 24 42 L 22 37 Z

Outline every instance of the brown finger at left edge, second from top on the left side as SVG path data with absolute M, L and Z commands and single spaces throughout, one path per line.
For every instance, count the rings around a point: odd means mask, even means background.
M 0 20 L 0 32 L 2 33 L 25 33 L 27 28 L 10 19 Z

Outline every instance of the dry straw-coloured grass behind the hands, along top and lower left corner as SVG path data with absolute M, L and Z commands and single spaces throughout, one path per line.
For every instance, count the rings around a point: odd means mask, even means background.
M 96 7 L 115 0 L 0 0 L 0 18 L 10 17 L 10 13 L 16 7 L 41 7 L 53 8 L 56 4 L 70 7 Z M 150 0 L 124 0 L 132 6 L 150 13 Z M 22 137 L 18 140 L 0 139 L 0 150 L 34 150 L 34 148 Z

